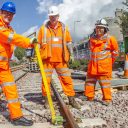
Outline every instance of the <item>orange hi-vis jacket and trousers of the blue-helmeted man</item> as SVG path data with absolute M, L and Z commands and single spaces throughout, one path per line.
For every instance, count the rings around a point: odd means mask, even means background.
M 23 115 L 15 80 L 9 68 L 14 45 L 24 48 L 31 47 L 30 39 L 16 34 L 11 26 L 7 26 L 0 17 L 0 85 L 8 102 L 11 119 Z

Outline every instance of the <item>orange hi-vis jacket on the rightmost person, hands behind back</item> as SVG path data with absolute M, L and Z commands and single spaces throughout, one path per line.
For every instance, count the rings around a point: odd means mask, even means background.
M 118 43 L 113 36 L 105 34 L 98 39 L 93 35 L 89 40 L 90 60 L 88 74 L 111 75 L 112 64 L 118 56 Z

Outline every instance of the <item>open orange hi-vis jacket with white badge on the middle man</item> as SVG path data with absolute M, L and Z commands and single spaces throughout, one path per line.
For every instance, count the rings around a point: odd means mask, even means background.
M 49 21 L 43 24 L 38 33 L 38 41 L 41 45 L 40 52 L 42 60 L 49 62 L 68 62 L 70 51 L 68 46 L 72 39 L 68 28 L 58 22 L 56 29 L 49 27 Z

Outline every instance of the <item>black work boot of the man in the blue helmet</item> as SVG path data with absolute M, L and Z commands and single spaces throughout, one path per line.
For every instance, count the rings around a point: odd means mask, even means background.
M 25 117 L 20 117 L 20 118 L 18 118 L 18 119 L 13 119 L 12 121 L 11 121 L 11 123 L 13 124 L 13 125 L 20 125 L 20 126 L 32 126 L 33 125 L 33 121 L 32 120 L 28 120 L 28 119 L 26 119 Z

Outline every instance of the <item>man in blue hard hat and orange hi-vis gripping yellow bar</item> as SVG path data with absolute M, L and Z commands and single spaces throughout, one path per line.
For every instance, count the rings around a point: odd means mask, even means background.
M 11 123 L 14 125 L 31 126 L 33 122 L 23 116 L 15 80 L 9 68 L 9 59 L 14 45 L 23 48 L 33 47 L 33 39 L 16 34 L 10 26 L 16 13 L 13 2 L 5 2 L 0 9 L 0 85 L 8 102 Z

